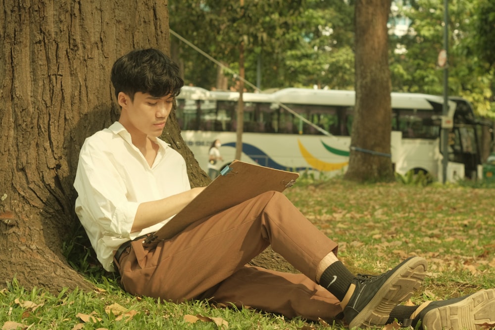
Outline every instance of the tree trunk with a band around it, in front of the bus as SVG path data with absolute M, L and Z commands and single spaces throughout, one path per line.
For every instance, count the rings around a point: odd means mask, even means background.
M 355 3 L 356 103 L 346 179 L 394 180 L 390 155 L 391 78 L 388 56 L 390 0 Z

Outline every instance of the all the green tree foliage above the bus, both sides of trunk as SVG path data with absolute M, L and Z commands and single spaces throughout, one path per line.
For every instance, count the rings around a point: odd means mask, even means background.
M 403 5 L 400 5 L 400 3 Z M 260 88 L 354 86 L 354 1 L 171 0 L 170 27 L 208 54 L 239 67 L 245 42 L 246 79 Z M 437 58 L 444 48 L 444 1 L 396 1 L 391 17 L 411 20 L 410 33 L 391 35 L 392 90 L 443 94 Z M 449 1 L 448 93 L 470 100 L 478 115 L 495 118 L 495 12 L 490 0 Z M 392 20 L 391 20 L 392 21 Z M 210 89 L 216 65 L 172 37 L 187 84 Z M 229 86 L 236 78 L 228 73 Z

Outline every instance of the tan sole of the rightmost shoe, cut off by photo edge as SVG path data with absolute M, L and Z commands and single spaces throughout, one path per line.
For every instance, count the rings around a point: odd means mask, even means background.
M 423 317 L 425 330 L 478 330 L 495 323 L 495 289 L 481 290 L 456 303 L 432 309 Z

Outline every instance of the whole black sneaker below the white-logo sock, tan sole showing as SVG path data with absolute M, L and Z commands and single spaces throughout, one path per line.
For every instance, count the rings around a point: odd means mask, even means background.
M 358 275 L 343 312 L 349 329 L 384 325 L 392 309 L 419 288 L 425 272 L 426 260 L 411 257 L 382 275 Z

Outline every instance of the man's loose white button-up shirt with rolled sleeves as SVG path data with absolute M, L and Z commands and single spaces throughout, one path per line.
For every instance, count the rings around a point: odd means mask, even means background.
M 74 188 L 76 214 L 107 271 L 124 242 L 160 229 L 168 219 L 131 233 L 139 204 L 191 189 L 184 158 L 166 142 L 150 167 L 119 123 L 86 139 L 79 154 Z

